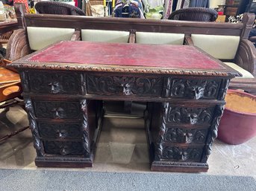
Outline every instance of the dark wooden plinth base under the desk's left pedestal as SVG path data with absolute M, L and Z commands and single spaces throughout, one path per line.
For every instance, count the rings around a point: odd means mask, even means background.
M 65 158 L 65 161 L 54 160 L 54 158 L 40 158 L 35 159 L 35 164 L 37 167 L 66 167 L 66 168 L 84 168 L 92 167 L 93 160 L 88 158 L 81 159 L 80 161 L 73 161 L 72 159 L 68 160 Z

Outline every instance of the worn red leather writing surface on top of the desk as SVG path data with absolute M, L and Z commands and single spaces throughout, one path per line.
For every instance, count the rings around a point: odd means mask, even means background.
M 197 48 L 187 45 L 141 45 L 129 43 L 67 41 L 38 52 L 28 62 L 77 63 L 83 65 L 131 65 L 157 68 L 210 69 L 224 67 Z

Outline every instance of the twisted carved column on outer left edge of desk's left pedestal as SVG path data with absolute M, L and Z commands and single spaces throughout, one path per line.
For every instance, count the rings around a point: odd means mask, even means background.
M 34 148 L 37 150 L 37 156 L 43 157 L 45 155 L 43 143 L 40 140 L 40 135 L 37 128 L 36 117 L 34 114 L 33 104 L 30 98 L 24 97 L 25 109 L 28 112 L 29 126 L 34 137 Z

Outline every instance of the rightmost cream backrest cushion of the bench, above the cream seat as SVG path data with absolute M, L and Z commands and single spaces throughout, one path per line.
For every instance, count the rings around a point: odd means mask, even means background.
M 240 36 L 192 34 L 191 38 L 195 46 L 216 59 L 234 59 L 240 42 Z

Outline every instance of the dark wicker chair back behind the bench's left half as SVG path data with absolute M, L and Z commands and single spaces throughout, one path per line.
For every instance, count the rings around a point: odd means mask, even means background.
M 38 13 L 85 16 L 83 10 L 71 4 L 57 1 L 40 1 L 35 5 Z

